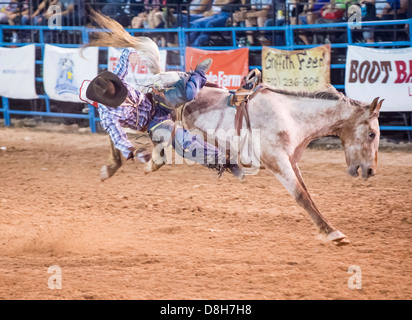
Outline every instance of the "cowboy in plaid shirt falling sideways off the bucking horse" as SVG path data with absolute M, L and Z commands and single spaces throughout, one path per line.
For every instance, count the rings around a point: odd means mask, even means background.
M 99 74 L 91 82 L 84 81 L 80 99 L 98 107 L 100 121 L 109 133 L 115 148 L 129 160 L 139 157 L 137 150 L 127 138 L 123 127 L 137 131 L 147 129 L 154 143 L 165 140 L 164 133 L 173 138 L 174 149 L 183 158 L 193 160 L 209 168 L 231 172 L 242 179 L 242 169 L 231 164 L 222 151 L 177 126 L 170 113 L 184 103 L 193 100 L 206 83 L 206 72 L 212 59 L 201 62 L 193 72 L 180 76 L 172 87 L 164 92 L 152 88 L 150 94 L 143 94 L 133 88 L 125 79 L 129 65 L 135 65 L 139 55 L 133 48 L 123 50 L 119 63 L 112 72 Z

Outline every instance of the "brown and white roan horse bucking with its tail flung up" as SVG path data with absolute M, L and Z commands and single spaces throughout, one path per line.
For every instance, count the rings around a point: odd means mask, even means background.
M 159 69 L 159 54 L 147 43 L 142 48 L 139 41 L 107 17 L 96 14 L 98 24 L 112 33 L 92 41 L 90 45 L 107 45 L 116 42 L 118 47 L 133 46 L 143 51 L 149 65 Z M 95 19 L 96 20 L 96 19 Z M 116 29 L 116 30 L 113 30 Z M 157 47 L 157 46 L 156 46 Z M 144 52 L 146 51 L 146 52 Z M 158 48 L 157 48 L 158 51 Z M 153 73 L 158 73 L 153 72 Z M 173 83 L 175 72 L 158 73 L 157 84 Z M 167 86 L 167 85 L 165 85 Z M 205 135 L 216 134 L 220 140 L 236 135 L 234 108 L 228 107 L 231 93 L 224 88 L 204 87 L 196 99 L 182 108 L 181 118 L 188 128 L 196 128 Z M 348 173 L 362 178 L 375 175 L 379 146 L 379 110 L 383 100 L 362 103 L 345 97 L 332 86 L 315 93 L 290 92 L 269 88 L 262 90 L 249 101 L 250 128 L 259 130 L 260 165 L 270 170 L 310 215 L 320 234 L 337 245 L 347 244 L 346 236 L 337 230 L 320 213 L 312 200 L 301 176 L 298 162 L 308 144 L 319 137 L 339 136 L 348 165 Z M 245 126 L 244 126 L 245 127 Z M 223 133 L 224 136 L 220 136 Z M 256 141 L 252 140 L 252 143 Z M 156 164 L 159 154 L 153 149 L 152 158 L 144 171 L 153 172 L 161 167 Z

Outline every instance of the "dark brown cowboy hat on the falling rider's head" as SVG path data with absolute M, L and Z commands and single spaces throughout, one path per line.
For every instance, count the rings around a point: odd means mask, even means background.
M 108 92 L 110 82 L 114 85 L 114 95 Z M 127 97 L 127 88 L 113 72 L 105 71 L 90 82 L 86 90 L 86 97 L 108 107 L 116 108 L 122 104 Z

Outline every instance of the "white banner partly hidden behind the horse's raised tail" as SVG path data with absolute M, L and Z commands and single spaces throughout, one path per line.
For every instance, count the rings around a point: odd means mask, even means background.
M 108 57 L 107 57 L 107 70 L 113 72 L 119 62 L 119 58 L 122 54 L 123 49 L 109 47 L 108 50 Z M 162 71 L 166 70 L 166 58 L 167 58 L 167 50 L 160 50 L 160 66 Z M 139 91 L 145 92 L 147 90 L 144 87 L 145 84 L 151 79 L 151 73 L 146 68 L 144 60 L 140 60 L 136 67 L 133 68 L 132 66 L 129 67 L 126 81 L 130 83 L 134 88 Z

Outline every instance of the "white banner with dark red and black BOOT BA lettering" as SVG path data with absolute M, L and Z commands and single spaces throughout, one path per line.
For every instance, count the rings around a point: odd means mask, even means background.
M 385 99 L 381 111 L 412 111 L 412 48 L 349 46 L 345 91 L 348 97 L 363 102 Z

